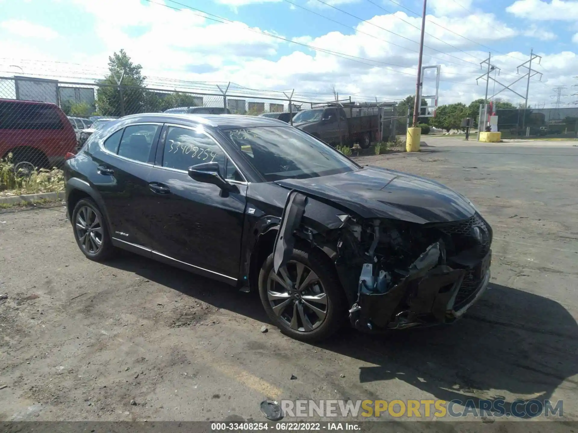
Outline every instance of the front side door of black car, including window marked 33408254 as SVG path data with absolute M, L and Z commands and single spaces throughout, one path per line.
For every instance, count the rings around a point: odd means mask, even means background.
M 205 162 L 217 162 L 234 191 L 188 176 L 188 167 Z M 149 179 L 153 257 L 235 284 L 247 182 L 223 148 L 202 130 L 166 125 Z

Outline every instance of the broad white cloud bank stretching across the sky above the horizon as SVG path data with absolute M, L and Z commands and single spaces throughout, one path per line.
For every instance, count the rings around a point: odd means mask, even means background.
M 419 40 L 421 20 L 419 17 L 409 17 L 403 12 L 397 12 L 395 16 L 375 16 L 368 19 L 369 23 L 362 22 L 357 25 L 359 31 L 373 37 L 361 32 L 344 34 L 338 31 L 315 38 L 310 35 L 291 35 L 295 42 L 362 58 L 352 61 L 273 39 L 260 34 L 260 29 L 251 28 L 240 21 L 215 23 L 184 8 L 177 11 L 142 3 L 140 0 L 101 0 L 98 3 L 84 0 L 61 1 L 72 3 L 71 9 L 82 17 L 79 19 L 86 19 L 87 25 L 94 25 L 91 30 L 94 31 L 95 40 L 87 44 L 90 48 L 76 53 L 65 50 L 60 52 L 57 51 L 58 44 L 50 44 L 56 48 L 43 52 L 36 41 L 0 38 L 2 57 L 10 57 L 8 63 L 0 65 L 2 70 L 8 70 L 4 68 L 9 65 L 19 65 L 25 73 L 39 76 L 53 73 L 54 76 L 63 77 L 86 77 L 87 74 L 91 77 L 102 77 L 106 73 L 108 56 L 113 51 L 124 48 L 135 63 L 143 66 L 143 74 L 149 77 L 151 87 L 186 89 L 192 85 L 171 80 L 205 83 L 231 81 L 257 89 L 295 88 L 297 95 L 301 92 L 331 94 L 330 89 L 335 84 L 340 95 L 354 95 L 353 99 L 357 100 L 363 98 L 355 95 L 363 95 L 372 100 L 375 100 L 375 96 L 380 100 L 402 99 L 413 94 L 415 89 L 418 44 L 410 40 Z M 162 0 L 155 0 L 160 1 Z M 81 8 L 81 13 L 75 9 L 77 6 Z M 110 10 L 113 9 L 117 13 L 111 14 Z M 130 26 L 127 26 L 127 16 L 131 17 Z M 452 31 L 427 21 L 426 31 L 438 39 L 426 36 L 425 43 L 431 48 L 424 51 L 424 65 L 442 65 L 439 96 L 441 104 L 469 103 L 483 97 L 485 91 L 485 83 L 480 81 L 480 85 L 476 86 L 475 79 L 483 73 L 480 71 L 479 62 L 487 57 L 486 48 L 458 35 L 489 46 L 495 46 L 498 42 L 507 43 L 509 38 L 520 34 L 532 33 L 535 38 L 551 38 L 547 30 L 540 26 L 514 29 L 490 13 L 449 14 L 442 17 L 428 15 L 428 20 Z M 137 32 L 134 31 L 135 27 L 138 28 Z M 497 28 L 498 31 L 480 31 L 490 27 Z M 384 29 L 410 40 L 399 38 Z M 269 28 L 264 30 L 271 32 Z M 578 43 L 578 35 L 574 42 Z M 95 52 L 93 47 L 97 46 L 102 49 Z M 287 54 L 279 57 L 277 53 L 280 50 Z M 502 68 L 498 80 L 511 83 L 520 77 L 516 74 L 516 66 L 527 60 L 528 54 L 492 54 L 492 63 Z M 18 58 L 35 61 L 18 61 Z M 42 60 L 47 62 L 43 63 Z M 79 65 L 57 64 L 55 61 L 74 62 Z M 546 74 L 544 83 L 539 83 L 538 77 L 531 80 L 529 102 L 532 104 L 543 100 L 550 102 L 551 88 L 554 85 L 576 84 L 573 77 L 578 70 L 578 56 L 575 53 L 566 51 L 543 55 L 542 65 L 546 68 L 542 70 Z M 537 70 L 542 68 L 535 64 L 532 64 L 532 67 Z M 20 73 L 19 70 L 11 72 Z M 156 77 L 163 77 L 164 85 L 161 85 L 160 79 Z M 428 84 L 431 85 L 432 82 L 426 79 L 425 87 Z M 492 90 L 493 83 L 490 84 Z M 213 86 L 212 92 L 218 93 L 213 84 L 206 84 L 209 85 Z M 525 94 L 525 80 L 521 80 L 513 88 L 520 94 Z M 497 84 L 496 91 L 499 89 Z M 300 99 L 310 96 L 302 94 Z M 520 98 L 509 91 L 502 92 L 499 96 L 515 104 L 520 102 Z M 331 95 L 323 97 L 332 98 Z M 217 99 L 219 97 L 214 98 Z

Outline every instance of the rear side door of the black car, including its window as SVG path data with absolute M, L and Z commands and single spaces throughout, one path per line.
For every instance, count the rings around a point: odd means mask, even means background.
M 146 211 L 154 205 L 154 197 L 149 176 L 161 126 L 126 126 L 104 139 L 92 153 L 95 173 L 91 180 L 105 203 L 111 236 L 119 242 L 150 247 Z

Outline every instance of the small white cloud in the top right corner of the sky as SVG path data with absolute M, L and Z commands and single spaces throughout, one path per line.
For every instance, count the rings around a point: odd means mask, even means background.
M 578 1 L 517 0 L 506 11 L 532 21 L 575 21 L 578 19 Z

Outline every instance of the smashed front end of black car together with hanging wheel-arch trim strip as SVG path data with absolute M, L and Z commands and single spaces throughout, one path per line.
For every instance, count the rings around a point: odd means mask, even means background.
M 297 191 L 288 196 L 275 270 L 295 237 L 323 249 L 335 262 L 358 329 L 450 323 L 487 287 L 492 231 L 477 212 L 461 221 L 426 224 L 340 214 L 339 222 L 320 228 L 314 220 L 322 218 L 305 211 L 306 203 Z

